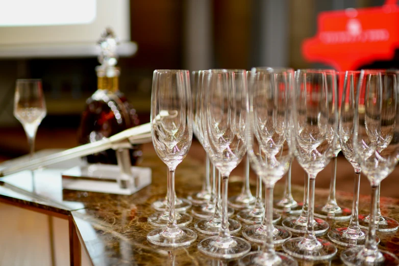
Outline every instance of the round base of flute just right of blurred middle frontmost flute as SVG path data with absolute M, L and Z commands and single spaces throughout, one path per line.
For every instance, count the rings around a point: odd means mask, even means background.
M 301 247 L 303 237 L 296 237 L 287 240 L 283 244 L 284 251 L 292 257 L 308 260 L 330 259 L 337 254 L 337 248 L 328 241 L 317 238 L 321 244 L 315 249 L 305 249 Z

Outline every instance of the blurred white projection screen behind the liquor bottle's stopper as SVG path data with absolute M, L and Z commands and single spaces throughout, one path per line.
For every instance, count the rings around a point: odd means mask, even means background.
M 135 53 L 129 0 L 0 0 L 0 58 L 96 56 L 106 27 Z

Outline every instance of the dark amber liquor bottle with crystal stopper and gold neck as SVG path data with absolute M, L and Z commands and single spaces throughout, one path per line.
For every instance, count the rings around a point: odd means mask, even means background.
M 78 141 L 86 144 L 110 137 L 127 128 L 139 124 L 133 105 L 119 91 L 120 69 L 116 67 L 118 40 L 111 29 L 106 29 L 98 41 L 101 53 L 95 68 L 97 90 L 86 100 L 78 130 Z M 132 165 L 141 157 L 141 146 L 135 145 L 130 150 Z M 88 163 L 117 164 L 116 153 L 109 149 L 87 156 Z

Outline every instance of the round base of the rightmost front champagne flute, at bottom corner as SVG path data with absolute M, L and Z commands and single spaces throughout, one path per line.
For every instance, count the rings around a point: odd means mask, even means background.
M 351 265 L 351 266 L 352 265 L 353 266 L 355 266 L 355 265 L 356 266 L 359 266 L 359 265 L 393 266 L 393 265 L 399 264 L 399 259 L 395 255 L 393 255 L 390 252 L 382 251 L 382 250 L 379 250 L 378 259 L 375 262 L 372 262 L 372 260 L 370 260 L 370 258 L 367 258 L 367 256 L 364 256 L 361 253 L 359 254 L 359 252 L 362 252 L 363 249 L 364 249 L 364 247 L 354 247 L 354 248 L 344 250 L 341 253 L 341 260 L 343 261 L 343 263 L 345 263 L 345 265 Z

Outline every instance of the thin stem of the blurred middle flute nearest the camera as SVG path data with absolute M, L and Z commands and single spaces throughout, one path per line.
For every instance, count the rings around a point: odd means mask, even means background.
M 275 252 L 273 245 L 273 188 L 274 183 L 265 184 L 265 218 L 263 219 L 263 224 L 266 226 L 266 241 L 264 242 L 263 252 L 271 254 Z

